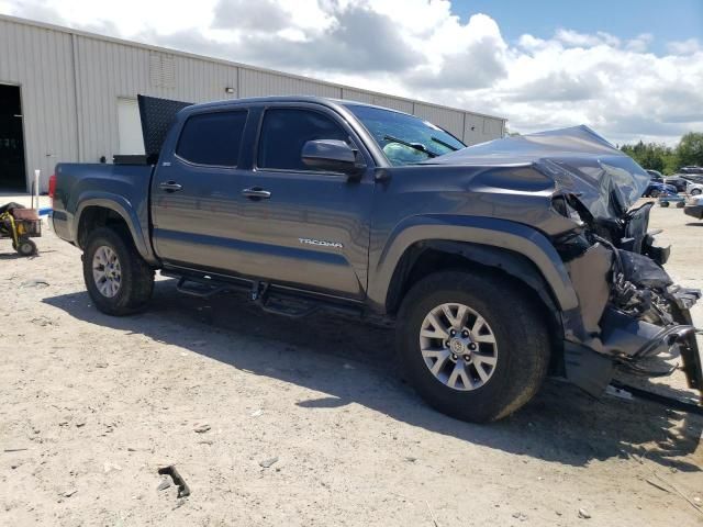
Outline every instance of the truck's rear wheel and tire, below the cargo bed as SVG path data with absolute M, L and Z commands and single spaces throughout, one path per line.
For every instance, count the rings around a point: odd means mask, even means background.
M 143 310 L 154 291 L 154 270 L 132 239 L 107 227 L 88 236 L 83 280 L 96 307 L 108 315 L 122 316 Z

